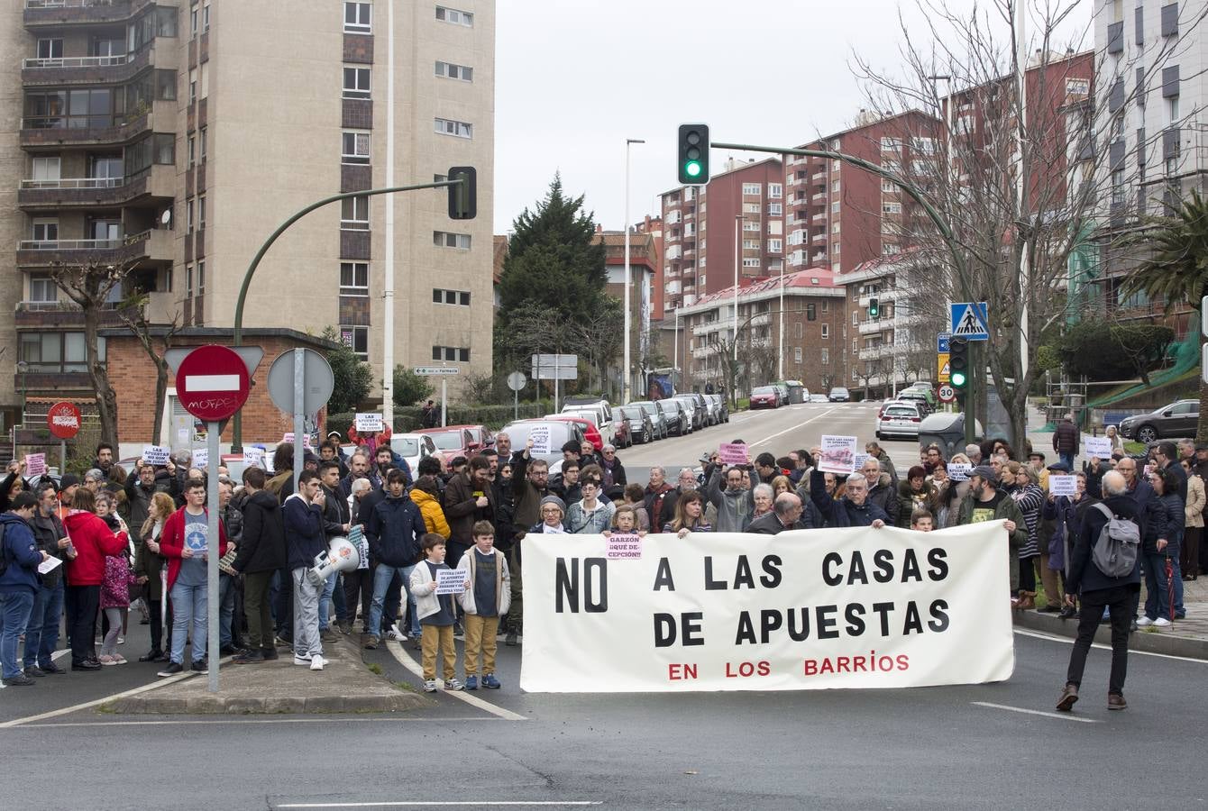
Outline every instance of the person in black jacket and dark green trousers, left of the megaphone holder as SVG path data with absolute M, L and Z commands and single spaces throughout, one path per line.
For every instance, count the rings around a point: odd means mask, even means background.
M 248 498 L 243 506 L 243 539 L 232 567 L 243 574 L 243 609 L 248 618 L 248 650 L 234 661 L 250 664 L 277 659 L 268 589 L 273 573 L 285 566 L 285 524 L 281 504 L 265 489 L 265 471 L 243 472 Z

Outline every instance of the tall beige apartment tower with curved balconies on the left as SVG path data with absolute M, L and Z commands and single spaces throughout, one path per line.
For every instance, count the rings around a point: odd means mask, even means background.
M 395 363 L 490 371 L 493 1 L 24 0 L 2 14 L 0 109 L 21 123 L 0 133 L 0 334 L 36 393 L 89 393 L 82 317 L 51 268 L 128 269 L 114 307 L 144 292 L 152 323 L 230 327 L 251 257 L 290 215 L 451 165 L 477 168 L 476 220 L 451 221 L 443 191 L 320 208 L 265 256 L 244 323 L 336 327 L 381 381 L 390 308 Z M 0 375 L 0 403 L 16 386 Z

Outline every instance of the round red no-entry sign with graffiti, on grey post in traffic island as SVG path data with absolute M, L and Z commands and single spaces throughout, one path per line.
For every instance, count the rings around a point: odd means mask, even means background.
M 209 459 L 222 457 L 220 440 L 222 426 L 232 414 L 243 408 L 251 391 L 251 373 L 260 363 L 265 350 L 259 346 L 230 346 L 207 344 L 194 349 L 175 349 L 164 352 L 164 360 L 176 373 L 176 397 L 186 412 L 205 421 L 205 447 Z M 216 469 L 216 465 L 215 465 Z M 219 692 L 219 558 L 222 556 L 222 537 L 219 532 L 219 477 L 207 475 L 207 535 L 205 535 L 205 594 L 207 612 L 207 660 L 210 675 L 210 693 Z

